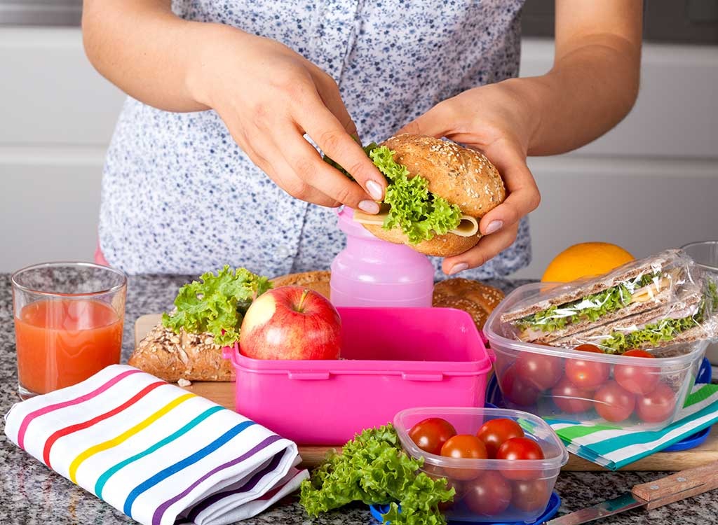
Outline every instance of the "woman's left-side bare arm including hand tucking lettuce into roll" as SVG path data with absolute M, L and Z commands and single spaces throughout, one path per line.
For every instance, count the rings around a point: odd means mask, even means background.
M 187 22 L 169 0 L 85 0 L 85 50 L 102 75 L 168 111 L 213 109 L 287 193 L 378 212 L 384 177 L 356 143 L 336 83 L 289 47 L 223 24 Z M 354 176 L 323 162 L 303 135 Z

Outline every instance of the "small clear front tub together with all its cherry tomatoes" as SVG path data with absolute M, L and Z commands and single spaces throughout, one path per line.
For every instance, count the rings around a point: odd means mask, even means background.
M 546 422 L 518 410 L 410 408 L 393 424 L 421 470 L 456 491 L 441 507 L 449 521 L 536 521 L 569 460 Z

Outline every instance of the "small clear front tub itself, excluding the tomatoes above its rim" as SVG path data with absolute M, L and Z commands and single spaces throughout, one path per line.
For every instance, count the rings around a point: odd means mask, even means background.
M 451 423 L 457 434 L 476 435 L 487 421 L 516 421 L 524 435 L 536 441 L 542 460 L 457 459 L 421 450 L 409 430 L 429 417 Z M 421 407 L 398 412 L 394 417 L 401 445 L 413 458 L 424 458 L 421 471 L 432 478 L 447 478 L 456 490 L 452 503 L 442 506 L 449 521 L 536 521 L 549 503 L 554 483 L 569 453 L 554 430 L 528 412 L 501 408 Z

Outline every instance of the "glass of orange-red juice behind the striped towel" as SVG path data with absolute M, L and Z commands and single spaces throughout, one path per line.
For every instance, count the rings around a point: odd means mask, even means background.
M 46 262 L 12 275 L 22 399 L 120 362 L 127 277 L 90 262 Z

